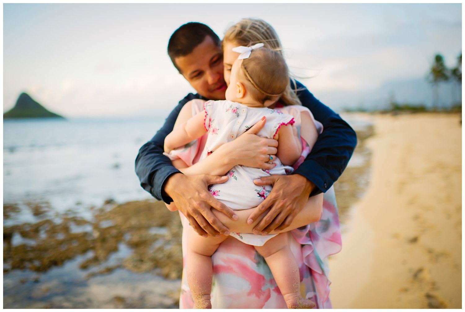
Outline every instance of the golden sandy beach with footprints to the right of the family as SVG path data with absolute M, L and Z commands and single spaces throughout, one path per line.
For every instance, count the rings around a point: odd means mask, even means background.
M 369 118 L 369 186 L 330 259 L 333 307 L 461 308 L 461 115 Z

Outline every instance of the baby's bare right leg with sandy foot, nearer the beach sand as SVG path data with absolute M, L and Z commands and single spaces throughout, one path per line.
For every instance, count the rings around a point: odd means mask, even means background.
M 270 267 L 288 309 L 311 309 L 315 306 L 300 294 L 299 267 L 289 248 L 287 232 L 276 235 L 263 246 L 255 246 L 255 249 Z

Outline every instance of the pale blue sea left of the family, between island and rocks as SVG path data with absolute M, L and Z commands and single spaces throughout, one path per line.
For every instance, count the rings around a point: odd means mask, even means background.
M 4 120 L 4 203 L 48 202 L 51 209 L 63 212 L 101 206 L 106 199 L 125 202 L 151 198 L 140 187 L 134 160 L 163 122 Z M 27 218 L 27 213 L 20 213 L 8 222 L 27 222 Z

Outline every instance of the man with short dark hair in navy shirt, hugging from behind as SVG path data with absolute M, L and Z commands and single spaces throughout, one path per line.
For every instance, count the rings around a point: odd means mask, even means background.
M 204 24 L 187 23 L 179 27 L 171 36 L 168 54 L 173 65 L 193 86 L 197 94 L 189 93 L 179 101 L 164 126 L 153 139 L 140 148 L 136 158 L 136 173 L 140 185 L 147 192 L 168 204 L 173 201 L 199 235 L 216 236 L 219 233 L 228 235 L 229 230 L 213 215 L 211 208 L 225 213 L 231 219 L 235 219 L 235 214 L 207 191 L 208 185 L 226 180 L 208 174 L 186 176 L 175 169 L 171 161 L 162 154 L 164 139 L 173 130 L 184 104 L 193 99 L 225 99 L 226 83 L 223 78 L 223 58 L 219 38 Z M 298 87 L 300 86 L 302 85 L 298 84 Z M 315 173 L 312 168 L 301 165 L 295 174 L 272 178 L 272 193 L 265 200 L 267 205 L 276 209 L 272 209 L 268 218 L 264 218 L 256 227 L 258 232 L 286 228 L 297 214 L 298 211 L 295 210 L 302 209 L 305 205 L 309 194 L 326 192 L 339 178 L 357 144 L 355 132 L 338 114 L 319 102 L 308 91 L 298 92 L 298 96 L 301 100 L 305 98 L 305 101 L 302 100 L 303 103 L 310 103 L 307 107 L 312 111 L 315 119 L 322 122 L 326 133 L 326 140 L 317 141 L 319 148 L 314 147 L 307 160 L 313 159 L 315 164 L 323 163 L 325 167 L 324 170 Z M 258 131 L 258 127 L 251 129 L 233 140 L 232 142 L 237 142 L 235 146 L 242 146 L 244 150 L 232 150 L 231 157 L 237 156 L 240 159 L 245 157 L 242 156 L 243 154 L 250 154 L 250 150 L 264 144 L 266 146 L 263 147 L 277 146 L 275 140 L 264 140 L 255 135 Z M 267 165 L 270 164 L 262 164 L 262 166 Z

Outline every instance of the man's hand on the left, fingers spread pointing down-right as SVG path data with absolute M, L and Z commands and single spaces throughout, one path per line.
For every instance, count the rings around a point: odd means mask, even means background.
M 227 176 L 213 176 L 209 174 L 186 176 L 175 173 L 165 183 L 165 192 L 173 199 L 179 209 L 200 236 L 219 236 L 219 233 L 229 235 L 229 229 L 215 217 L 211 208 L 223 212 L 230 219 L 237 220 L 238 216 L 225 204 L 208 192 L 211 184 L 226 182 Z

